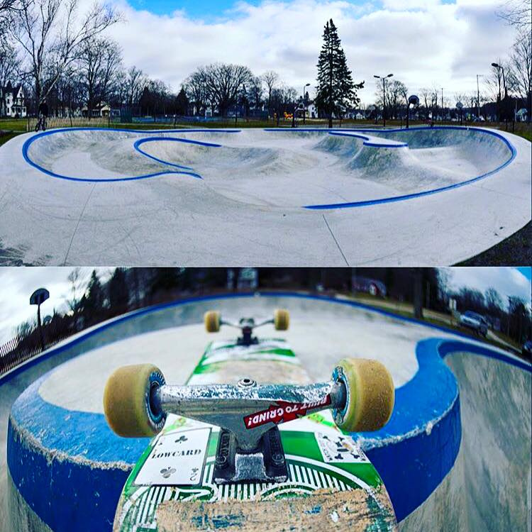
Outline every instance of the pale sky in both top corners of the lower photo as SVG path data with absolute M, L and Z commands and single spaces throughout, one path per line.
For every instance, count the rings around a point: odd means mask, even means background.
M 0 345 L 15 336 L 19 323 L 34 319 L 35 306 L 29 304 L 32 292 L 40 287 L 48 289 L 50 299 L 41 306 L 42 316 L 67 311 L 70 298 L 70 267 L 3 267 L 0 268 Z M 89 279 L 92 268 L 82 268 L 82 277 Z M 111 268 L 96 268 L 99 277 L 108 279 Z M 450 287 L 472 287 L 485 292 L 494 287 L 503 297 L 518 296 L 531 306 L 532 268 L 470 267 L 445 268 L 449 272 Z

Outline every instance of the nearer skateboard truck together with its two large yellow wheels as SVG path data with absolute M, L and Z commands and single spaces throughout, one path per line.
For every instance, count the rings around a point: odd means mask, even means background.
M 278 425 L 314 411 L 331 409 L 345 432 L 376 431 L 394 407 L 394 384 L 375 360 L 347 358 L 329 382 L 172 386 L 150 364 L 118 368 L 104 391 L 104 411 L 118 436 L 153 436 L 177 414 L 221 428 L 214 481 L 284 482 L 288 479 Z

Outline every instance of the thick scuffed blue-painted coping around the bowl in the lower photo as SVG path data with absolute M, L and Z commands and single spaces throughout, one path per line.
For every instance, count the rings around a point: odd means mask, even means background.
M 262 292 L 261 295 L 331 301 L 376 311 L 377 314 L 422 324 L 435 330 L 448 331 L 440 326 L 397 316 L 389 311 L 376 310 L 354 301 L 293 292 Z M 193 301 L 216 301 L 236 297 L 255 297 L 255 294 L 194 297 L 142 309 L 106 323 L 83 338 L 77 338 L 69 345 L 57 348 L 55 354 L 88 336 L 94 336 L 136 316 Z M 367 438 L 369 441 L 367 456 L 387 487 L 399 521 L 426 500 L 453 467 L 458 455 L 461 437 L 458 387 L 453 373 L 441 359 L 460 350 L 501 360 L 532 372 L 532 366 L 525 362 L 460 339 L 431 338 L 421 340 L 416 345 L 419 370 L 409 382 L 396 390 L 396 406 L 392 419 L 377 433 L 353 434 L 356 439 Z M 48 353 L 48 356 L 50 355 L 52 353 Z M 42 358 L 36 363 L 41 360 Z M 84 465 L 81 460 L 62 460 L 60 457 L 48 462 L 35 448 L 24 443 L 24 438 L 16 431 L 10 419 L 8 465 L 11 477 L 29 506 L 56 532 L 72 529 L 111 530 L 116 504 L 128 471 L 119 467 L 109 468 L 109 463 L 106 462 L 135 462 L 148 445 L 149 438 L 118 438 L 107 426 L 103 414 L 69 411 L 45 402 L 38 394 L 38 389 L 54 371 L 51 370 L 40 377 L 21 394 L 13 404 L 13 420 L 21 428 L 37 436 L 46 448 L 103 464 L 99 468 L 95 467 L 94 463 Z M 428 430 L 428 422 L 433 420 L 434 423 Z M 50 427 L 54 427 L 54 431 L 50 431 Z M 414 436 L 404 438 L 405 433 L 413 429 L 416 432 Z M 376 440 L 381 440 L 384 445 L 375 445 Z M 68 445 L 65 446 L 65 443 Z M 438 460 L 435 460 L 435 456 Z M 28 467 L 30 463 L 31 467 Z M 405 489 L 406 486 L 413 489 Z M 49 504 L 49 501 L 57 500 L 63 503 L 61 509 Z

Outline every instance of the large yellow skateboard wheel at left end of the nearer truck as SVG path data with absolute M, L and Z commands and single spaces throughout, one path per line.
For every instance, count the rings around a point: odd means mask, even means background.
M 165 384 L 151 364 L 119 367 L 107 379 L 104 412 L 113 432 L 124 438 L 154 436 L 165 425 L 166 414 L 153 402 L 153 390 Z

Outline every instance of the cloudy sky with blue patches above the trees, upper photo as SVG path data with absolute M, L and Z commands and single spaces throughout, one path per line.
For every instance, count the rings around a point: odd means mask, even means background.
M 84 0 L 83 0 L 84 1 Z M 88 0 L 87 0 L 88 1 Z M 195 67 L 224 61 L 255 74 L 276 70 L 294 87 L 315 84 L 323 25 L 333 18 L 366 104 L 374 74 L 421 87 L 476 94 L 476 74 L 504 57 L 514 30 L 497 17 L 504 0 L 111 0 L 125 22 L 109 34 L 126 65 L 179 89 Z

